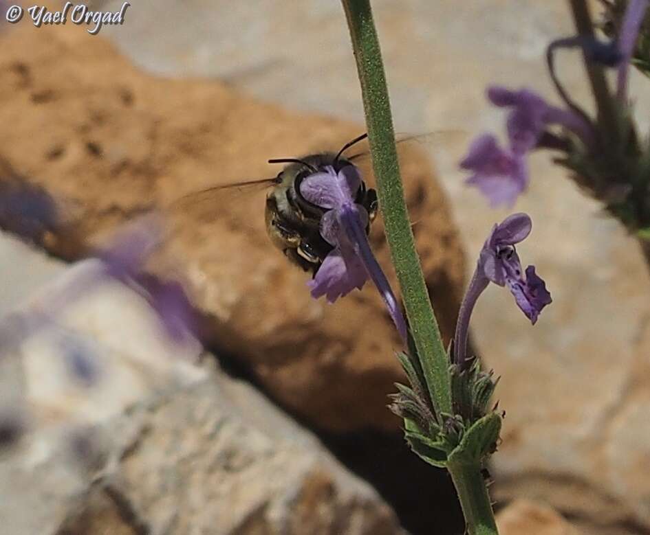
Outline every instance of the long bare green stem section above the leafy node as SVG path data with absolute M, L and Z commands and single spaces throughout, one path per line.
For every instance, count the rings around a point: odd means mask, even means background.
M 433 315 L 404 199 L 391 105 L 369 0 L 342 0 L 361 82 L 368 141 L 386 239 L 404 308 L 437 411 L 451 413 L 449 360 Z

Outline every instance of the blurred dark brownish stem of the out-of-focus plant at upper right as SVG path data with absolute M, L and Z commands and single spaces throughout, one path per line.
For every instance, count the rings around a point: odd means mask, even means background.
M 592 16 L 589 13 L 589 5 L 587 5 L 587 2 L 585 0 L 570 0 L 569 3 L 578 35 L 594 38 L 594 23 L 592 22 Z M 586 50 L 583 50 L 583 58 L 585 60 L 587 76 L 589 77 L 589 84 L 591 84 L 594 100 L 596 100 L 596 107 L 598 108 L 598 124 L 601 126 L 600 131 L 607 136 L 605 139 L 616 141 L 618 139 L 616 106 L 607 86 L 605 71 L 601 65 L 589 60 Z

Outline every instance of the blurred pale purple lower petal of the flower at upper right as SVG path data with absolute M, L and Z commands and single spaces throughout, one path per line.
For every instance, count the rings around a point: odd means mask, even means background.
M 490 134 L 475 139 L 460 166 L 474 172 L 466 184 L 479 188 L 492 207 L 512 206 L 528 185 L 526 159 L 499 147 L 497 138 Z

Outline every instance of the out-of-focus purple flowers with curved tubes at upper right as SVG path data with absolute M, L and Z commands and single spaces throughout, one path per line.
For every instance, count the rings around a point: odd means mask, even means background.
M 466 180 L 488 198 L 490 205 L 511 207 L 530 180 L 527 156 L 535 148 L 565 148 L 548 128 L 560 126 L 580 140 L 587 151 L 594 151 L 598 145 L 598 128 L 563 89 L 553 66 L 553 52 L 563 47 L 580 47 L 590 62 L 607 67 L 618 67 L 616 98 L 622 106 L 627 105 L 627 78 L 636 39 L 649 0 L 630 0 L 622 21 L 618 39 L 600 43 L 593 36 L 573 36 L 551 43 L 547 60 L 552 80 L 564 100 L 562 109 L 545 102 L 530 89 L 510 91 L 503 87 L 490 87 L 488 100 L 495 106 L 508 108 L 506 130 L 508 146 L 501 148 L 492 134 L 480 135 L 470 145 L 468 154 L 460 167 L 472 172 Z M 558 142 L 559 141 L 559 142 Z

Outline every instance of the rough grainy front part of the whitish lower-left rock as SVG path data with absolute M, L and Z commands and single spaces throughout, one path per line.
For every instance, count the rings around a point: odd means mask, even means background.
M 140 422 L 115 486 L 67 519 L 69 533 L 94 533 L 85 519 L 124 503 L 131 527 L 152 534 L 401 532 L 376 492 L 249 385 L 206 381 L 148 407 Z

